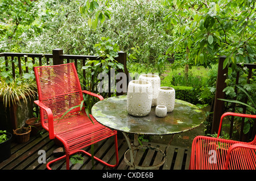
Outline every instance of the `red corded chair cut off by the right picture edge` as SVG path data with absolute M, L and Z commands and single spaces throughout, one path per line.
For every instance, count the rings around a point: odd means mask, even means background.
M 221 116 L 217 138 L 197 136 L 192 142 L 189 169 L 250 170 L 256 169 L 256 137 L 251 142 L 225 140 L 220 137 L 225 116 L 256 118 L 256 115 L 226 112 Z

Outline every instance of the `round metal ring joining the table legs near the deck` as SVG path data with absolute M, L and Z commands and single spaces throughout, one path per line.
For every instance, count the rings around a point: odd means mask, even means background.
M 127 160 L 126 158 L 126 154 L 128 153 L 128 151 L 134 151 L 134 150 L 139 150 L 139 149 L 152 149 L 155 151 L 159 151 L 160 153 L 163 154 L 163 159 L 160 163 L 156 164 L 156 165 L 152 165 L 152 166 L 139 166 L 139 165 L 135 165 L 134 163 L 131 163 L 130 161 Z M 141 169 L 141 170 L 152 170 L 152 169 L 156 169 L 160 166 L 162 166 L 166 160 L 166 155 L 164 154 L 164 152 L 162 150 L 160 150 L 159 148 L 156 148 L 154 146 L 135 146 L 131 149 L 128 149 L 125 154 L 124 154 L 124 158 L 125 158 L 125 162 L 127 163 L 127 165 L 129 165 L 132 169 Z

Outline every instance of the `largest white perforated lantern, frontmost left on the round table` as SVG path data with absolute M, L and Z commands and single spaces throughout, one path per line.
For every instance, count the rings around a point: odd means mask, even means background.
M 152 104 L 152 84 L 148 81 L 130 81 L 127 89 L 127 111 L 133 116 L 146 116 Z

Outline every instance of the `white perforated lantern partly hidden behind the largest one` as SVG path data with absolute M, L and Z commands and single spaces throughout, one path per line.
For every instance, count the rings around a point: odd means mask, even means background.
M 148 81 L 152 84 L 152 105 L 156 106 L 156 99 L 158 98 L 158 89 L 160 87 L 160 77 L 155 74 L 139 75 L 139 80 Z

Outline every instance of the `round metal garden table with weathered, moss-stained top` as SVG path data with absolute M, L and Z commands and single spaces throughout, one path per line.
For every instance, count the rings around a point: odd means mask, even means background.
M 201 111 L 197 106 L 178 99 L 175 99 L 174 111 L 167 113 L 167 116 L 165 117 L 156 117 L 155 107 L 151 108 L 151 112 L 147 116 L 131 116 L 127 112 L 126 95 L 110 97 L 97 102 L 92 107 L 92 115 L 99 123 L 110 129 L 115 129 L 123 133 L 130 150 L 130 161 L 128 161 L 126 157 L 125 161 L 131 167 L 131 169 L 155 169 L 155 167 L 163 165 L 167 155 L 162 150 L 152 146 L 139 146 L 137 141 L 138 134 L 171 134 L 172 137 L 168 144 L 169 146 L 173 136 L 176 133 L 181 133 L 196 128 L 201 125 L 205 119 L 204 112 Z M 131 144 L 127 133 L 134 133 L 134 146 Z M 168 150 L 168 146 L 166 150 Z M 163 153 L 164 159 L 158 165 L 149 166 L 146 168 L 135 165 L 134 155 L 135 151 L 138 149 L 154 149 L 156 151 L 160 151 Z

